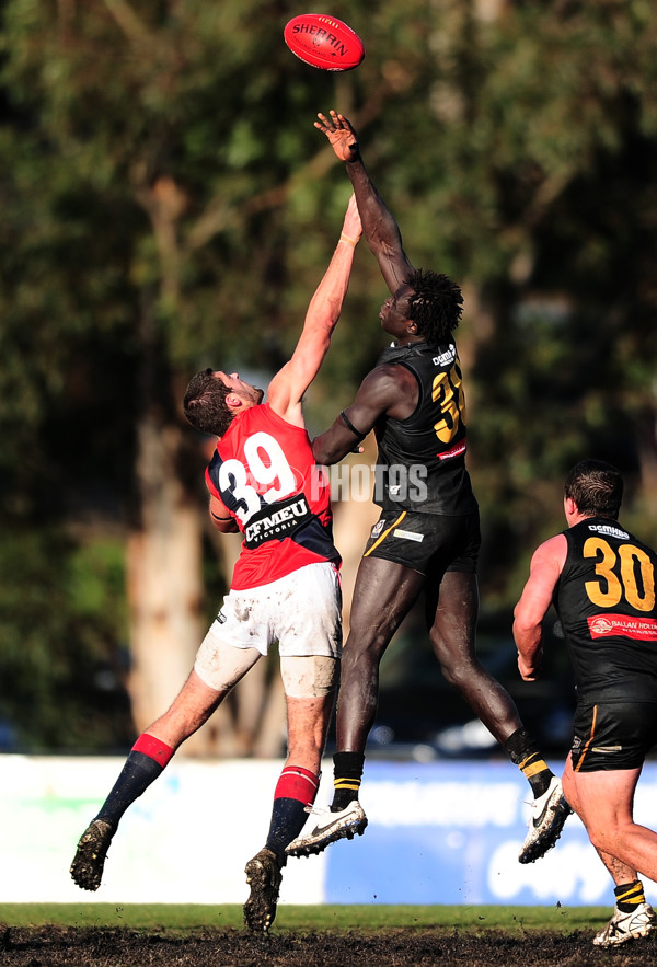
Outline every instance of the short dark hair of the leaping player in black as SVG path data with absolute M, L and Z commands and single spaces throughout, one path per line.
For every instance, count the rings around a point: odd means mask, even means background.
M 463 311 L 463 293 L 447 275 L 414 269 L 406 279 L 413 289 L 408 296 L 408 319 L 429 346 L 445 343 L 457 329 Z

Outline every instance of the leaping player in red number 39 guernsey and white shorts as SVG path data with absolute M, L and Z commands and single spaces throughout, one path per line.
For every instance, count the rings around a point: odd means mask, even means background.
M 291 359 L 267 390 L 237 372 L 206 369 L 191 380 L 188 421 L 218 437 L 207 469 L 210 515 L 244 542 L 231 588 L 169 709 L 139 737 L 97 816 L 78 844 L 71 875 L 101 884 L 107 849 L 128 806 L 160 775 L 240 679 L 278 642 L 287 701 L 288 756 L 274 794 L 265 847 L 246 864 L 246 925 L 268 931 L 286 847 L 314 802 L 339 675 L 341 559 L 333 543 L 327 484 L 303 422 L 303 394 L 318 375 L 347 292 L 360 217 L 351 197 L 339 241 L 308 308 Z

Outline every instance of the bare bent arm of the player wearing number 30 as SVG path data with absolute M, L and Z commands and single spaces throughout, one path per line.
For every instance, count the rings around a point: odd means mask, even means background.
M 531 559 L 527 584 L 514 611 L 514 638 L 518 648 L 518 669 L 525 681 L 535 681 L 543 657 L 543 619 L 564 566 L 567 542 L 556 534 Z

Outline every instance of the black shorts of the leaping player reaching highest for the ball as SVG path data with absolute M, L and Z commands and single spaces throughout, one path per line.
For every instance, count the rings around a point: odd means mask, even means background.
M 420 574 L 476 572 L 482 538 L 479 510 L 462 517 L 383 509 L 373 526 L 364 557 L 383 557 Z

